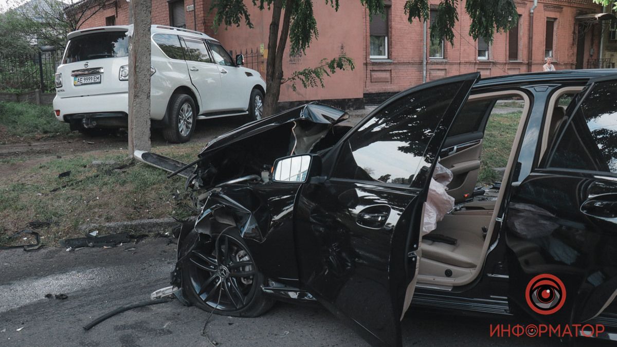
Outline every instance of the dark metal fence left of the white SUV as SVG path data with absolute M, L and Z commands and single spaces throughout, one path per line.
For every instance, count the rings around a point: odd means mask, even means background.
M 0 54 L 0 91 L 55 91 L 54 74 L 62 51 L 32 54 Z

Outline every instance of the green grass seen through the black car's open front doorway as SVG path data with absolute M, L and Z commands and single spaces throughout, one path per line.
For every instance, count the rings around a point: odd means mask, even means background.
M 491 114 L 486 124 L 484 144 L 482 146 L 482 164 L 478 182 L 490 184 L 500 181 L 501 177 L 493 170 L 508 164 L 510 149 L 514 142 L 516 129 L 521 119 L 521 112 Z

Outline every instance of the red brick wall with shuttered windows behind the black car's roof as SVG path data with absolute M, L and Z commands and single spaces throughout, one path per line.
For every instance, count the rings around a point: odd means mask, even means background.
M 429 0 L 436 5 L 439 1 Z M 416 20 L 407 22 L 402 10 L 405 0 L 392 0 L 389 28 L 389 59 L 370 59 L 370 33 L 368 14 L 365 11 L 365 93 L 401 91 L 421 83 L 423 80 L 422 51 L 423 23 Z M 444 59 L 428 59 L 426 80 L 469 73 L 481 72 L 482 77 L 513 73 L 542 71 L 544 65 L 545 30 L 547 18 L 555 19 L 553 35 L 553 64 L 557 69 L 576 67 L 576 35 L 578 24 L 574 17 L 583 13 L 597 13 L 601 7 L 591 0 L 545 0 L 538 1 L 534 10 L 534 35 L 532 40 L 532 59 L 529 62 L 529 10 L 532 0 L 516 0 L 521 15 L 518 32 L 519 59 L 508 59 L 508 33 L 498 33 L 489 48 L 489 59 L 478 60 L 477 44 L 471 38 L 469 28 L 471 19 L 465 13 L 465 2 L 458 4 L 460 21 L 455 27 L 454 46 L 444 44 Z M 600 25 L 590 27 L 585 33 L 584 67 L 587 59 L 597 58 Z M 428 50 L 428 49 L 427 49 Z

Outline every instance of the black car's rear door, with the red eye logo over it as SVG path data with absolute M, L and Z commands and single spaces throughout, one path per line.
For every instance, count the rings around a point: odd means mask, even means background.
M 545 324 L 579 324 L 617 295 L 617 75 L 590 80 L 555 134 L 510 188 L 509 299 Z

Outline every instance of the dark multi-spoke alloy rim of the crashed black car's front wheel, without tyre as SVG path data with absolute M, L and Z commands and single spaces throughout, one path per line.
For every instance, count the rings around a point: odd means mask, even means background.
M 197 296 L 219 311 L 238 311 L 251 303 L 259 285 L 246 247 L 223 233 L 202 243 L 189 257 L 191 285 Z

